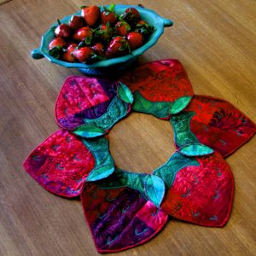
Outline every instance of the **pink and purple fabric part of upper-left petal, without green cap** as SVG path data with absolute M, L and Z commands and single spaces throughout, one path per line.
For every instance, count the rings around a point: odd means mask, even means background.
M 106 113 L 117 95 L 118 82 L 107 79 L 72 76 L 65 80 L 55 104 L 55 118 L 62 128 L 73 130 L 84 119 L 96 119 Z

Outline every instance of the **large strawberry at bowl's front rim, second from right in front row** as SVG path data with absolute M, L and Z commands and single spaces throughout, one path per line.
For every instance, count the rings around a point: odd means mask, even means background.
M 127 51 L 130 51 L 129 44 L 123 37 L 113 38 L 108 44 L 106 50 L 106 56 L 112 58 L 113 56 L 125 55 Z

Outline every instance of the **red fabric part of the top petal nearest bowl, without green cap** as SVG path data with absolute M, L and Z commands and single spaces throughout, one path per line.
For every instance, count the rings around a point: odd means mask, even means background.
M 174 102 L 180 96 L 194 95 L 187 73 L 177 60 L 145 63 L 119 80 L 151 102 Z

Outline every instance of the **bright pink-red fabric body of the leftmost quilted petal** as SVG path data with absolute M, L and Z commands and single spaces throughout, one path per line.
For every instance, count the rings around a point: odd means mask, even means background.
M 66 197 L 81 193 L 84 179 L 95 166 L 88 148 L 72 133 L 56 131 L 35 148 L 24 168 L 44 189 Z

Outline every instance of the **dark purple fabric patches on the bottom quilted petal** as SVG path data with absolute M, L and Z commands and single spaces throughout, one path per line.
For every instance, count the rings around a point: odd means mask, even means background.
M 154 230 L 148 228 L 139 219 L 133 219 L 145 203 L 145 198 L 136 190 L 125 189 L 121 192 L 113 204 L 91 224 L 91 230 L 99 247 L 102 249 L 126 247 L 134 242 L 134 239 L 131 241 L 131 238 L 136 238 L 139 241 L 141 236 L 137 236 L 137 234 L 143 235 L 145 232 L 143 230 L 146 229 L 147 235 L 148 233 L 153 234 Z M 122 233 L 124 230 L 129 233 L 126 234 L 125 239 Z

